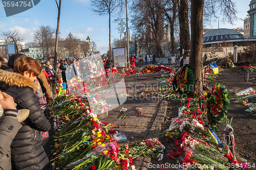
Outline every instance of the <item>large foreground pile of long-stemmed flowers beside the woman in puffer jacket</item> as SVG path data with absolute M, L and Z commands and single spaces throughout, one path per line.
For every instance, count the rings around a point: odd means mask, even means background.
M 90 99 L 89 99 L 90 100 Z M 52 101 L 54 149 L 52 168 L 65 169 L 135 169 L 133 159 L 150 156 L 162 160 L 164 145 L 157 139 L 133 143 L 120 148 L 115 139 L 115 125 L 101 122 L 87 99 L 70 95 Z M 123 113 L 127 111 L 122 108 Z

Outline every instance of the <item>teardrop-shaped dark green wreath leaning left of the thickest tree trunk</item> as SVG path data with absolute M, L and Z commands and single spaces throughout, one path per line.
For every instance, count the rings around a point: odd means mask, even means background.
M 188 64 L 185 64 L 174 76 L 174 80 L 172 82 L 174 91 L 176 91 L 178 94 L 188 93 L 194 87 L 194 79 L 193 71 Z

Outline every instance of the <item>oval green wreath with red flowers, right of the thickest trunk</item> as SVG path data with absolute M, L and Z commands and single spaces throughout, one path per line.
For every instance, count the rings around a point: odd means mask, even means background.
M 218 126 L 221 122 L 225 122 L 227 118 L 227 110 L 229 109 L 230 96 L 228 89 L 223 85 L 215 84 L 212 87 L 209 101 L 209 114 L 213 126 Z

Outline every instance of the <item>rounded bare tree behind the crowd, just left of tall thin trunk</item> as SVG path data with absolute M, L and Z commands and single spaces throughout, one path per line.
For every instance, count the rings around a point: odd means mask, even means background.
M 41 26 L 34 33 L 34 41 L 41 47 L 43 58 L 49 59 L 54 46 L 54 30 L 50 26 Z

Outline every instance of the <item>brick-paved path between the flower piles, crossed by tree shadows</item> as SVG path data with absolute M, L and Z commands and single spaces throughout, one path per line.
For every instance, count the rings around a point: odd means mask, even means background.
M 164 121 L 164 115 L 166 110 L 166 102 L 162 100 L 161 96 L 152 95 L 153 91 L 157 88 L 157 77 L 160 74 L 144 74 L 137 77 L 136 74 L 125 77 L 125 84 L 127 89 L 127 94 L 132 95 L 132 98 L 126 100 L 118 108 L 109 111 L 108 117 L 103 120 L 114 124 L 115 127 L 112 130 L 117 130 L 118 132 L 123 132 L 128 142 L 120 142 L 120 145 L 131 144 L 134 141 L 141 141 L 150 138 L 158 138 L 161 132 L 161 124 Z M 139 82 L 140 81 L 140 82 Z M 148 82 L 142 84 L 141 82 Z M 136 86 L 136 88 L 135 88 Z M 140 93 L 146 89 L 145 98 L 143 100 L 138 100 Z M 131 93 L 131 94 L 130 94 Z M 136 111 L 136 108 L 142 108 L 143 117 L 140 117 Z M 127 113 L 130 117 L 126 119 L 118 119 L 120 115 L 121 108 L 127 108 Z M 125 123 L 127 124 L 125 126 Z M 118 128 L 118 125 L 120 128 Z M 133 139 L 131 139 L 133 137 Z M 147 169 L 148 163 L 151 162 L 151 158 L 137 157 L 134 161 L 136 169 Z

